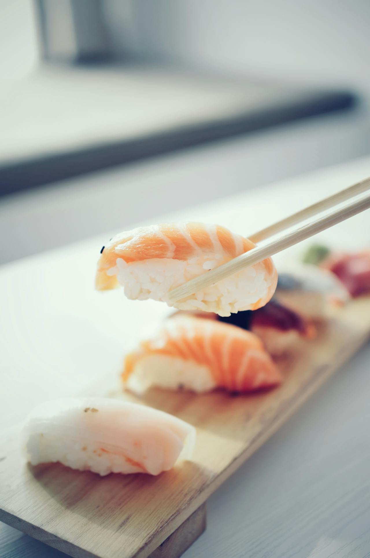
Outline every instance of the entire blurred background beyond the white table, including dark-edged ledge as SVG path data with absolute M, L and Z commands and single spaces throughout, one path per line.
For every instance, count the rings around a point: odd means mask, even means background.
M 369 26 L 367 0 L 0 0 L 0 263 L 368 154 Z

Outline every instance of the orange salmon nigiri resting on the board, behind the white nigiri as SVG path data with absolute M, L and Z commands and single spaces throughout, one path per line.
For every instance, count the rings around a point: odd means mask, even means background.
M 282 377 L 262 341 L 250 331 L 179 315 L 126 355 L 122 380 L 136 393 L 150 387 L 201 393 L 217 387 L 255 391 L 277 386 Z

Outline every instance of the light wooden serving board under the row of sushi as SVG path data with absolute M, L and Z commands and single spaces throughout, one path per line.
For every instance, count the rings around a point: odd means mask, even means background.
M 0 446 L 0 520 L 76 558 L 180 556 L 205 528 L 206 499 L 346 362 L 370 333 L 370 297 L 319 329 L 299 354 L 281 359 L 281 387 L 251 396 L 152 390 L 144 402 L 197 428 L 193 459 L 149 475 L 100 478 L 58 464 L 32 467 L 17 429 Z M 134 397 L 106 382 L 99 395 Z M 89 394 L 90 395 L 90 394 Z

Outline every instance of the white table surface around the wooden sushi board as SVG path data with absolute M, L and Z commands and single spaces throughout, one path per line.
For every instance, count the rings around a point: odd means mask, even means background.
M 370 174 L 370 158 L 164 219 L 218 222 L 248 234 Z M 123 224 L 124 225 L 124 224 Z M 81 392 L 107 371 L 161 303 L 93 290 L 107 235 L 0 268 L 0 419 L 11 426 L 37 402 Z M 321 233 L 370 245 L 369 213 Z M 292 248 L 275 258 L 278 266 Z M 370 346 L 364 347 L 208 503 L 208 528 L 185 558 L 370 557 Z M 1 495 L 0 495 L 1 498 Z M 63 556 L 0 525 L 0 557 Z

